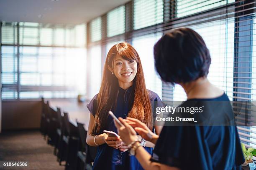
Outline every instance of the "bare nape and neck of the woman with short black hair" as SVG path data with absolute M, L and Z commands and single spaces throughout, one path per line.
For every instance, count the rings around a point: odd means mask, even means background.
M 212 85 L 206 77 L 200 77 L 189 83 L 180 84 L 186 94 L 187 99 L 192 98 L 214 98 L 223 94 L 223 91 Z

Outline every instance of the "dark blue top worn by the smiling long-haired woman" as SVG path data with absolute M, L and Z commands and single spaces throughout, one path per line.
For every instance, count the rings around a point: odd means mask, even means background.
M 129 95 L 133 90 L 133 86 L 129 87 L 126 90 L 123 90 L 119 87 L 117 105 L 114 111 L 114 115 L 116 117 L 127 117 L 129 112 Z M 164 107 L 165 104 L 161 101 L 160 97 L 148 90 L 148 97 L 151 101 L 151 107 L 155 110 L 156 107 Z M 97 95 L 95 95 L 89 104 L 87 104 L 87 108 L 90 110 L 92 115 L 95 117 L 95 112 L 93 111 L 93 103 L 97 101 Z M 155 112 L 154 112 L 155 113 Z M 156 115 L 154 114 L 154 119 Z M 108 117 L 108 129 L 109 131 L 113 131 L 117 133 L 117 129 L 115 128 L 113 118 Z M 153 148 L 145 147 L 145 149 L 152 155 Z M 119 149 L 115 149 L 109 147 L 107 144 L 103 144 L 97 147 L 97 155 L 93 163 L 93 170 L 143 170 L 140 163 L 134 156 L 129 156 L 128 151 L 121 152 Z

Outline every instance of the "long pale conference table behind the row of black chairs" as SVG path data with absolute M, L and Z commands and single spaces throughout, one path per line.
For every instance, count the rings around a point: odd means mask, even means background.
M 69 122 L 77 126 L 77 121 L 84 124 L 85 130 L 88 129 L 90 111 L 86 105 L 90 101 L 78 102 L 77 99 L 50 99 L 49 105 L 57 110 L 61 108 L 62 112 L 69 114 Z

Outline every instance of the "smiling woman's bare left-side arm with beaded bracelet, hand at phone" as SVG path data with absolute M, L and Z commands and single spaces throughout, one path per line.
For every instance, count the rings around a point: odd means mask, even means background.
M 86 136 L 86 143 L 90 146 L 97 146 L 94 143 L 94 136 L 92 136 L 92 127 L 94 123 L 94 116 L 90 113 L 90 120 L 89 120 L 89 126 Z M 98 145 L 102 145 L 104 143 L 107 143 L 108 146 L 113 147 L 115 149 L 118 149 L 122 146 L 122 140 L 120 138 L 116 137 L 109 137 L 106 133 L 102 133 L 100 135 L 97 135 L 95 142 Z

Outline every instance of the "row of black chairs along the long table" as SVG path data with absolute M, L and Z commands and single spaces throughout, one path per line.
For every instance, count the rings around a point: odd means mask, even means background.
M 54 146 L 54 155 L 59 165 L 65 162 L 65 170 L 90 170 L 97 148 L 86 143 L 84 124 L 77 126 L 69 121 L 69 114 L 49 106 L 42 98 L 40 130 L 49 145 Z

